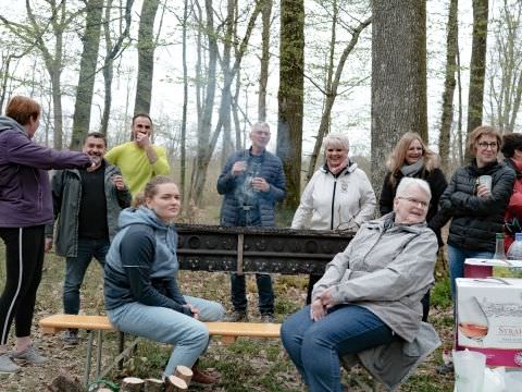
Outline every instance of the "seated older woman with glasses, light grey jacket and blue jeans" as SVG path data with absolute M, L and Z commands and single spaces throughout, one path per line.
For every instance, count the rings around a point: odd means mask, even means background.
M 394 212 L 363 224 L 326 266 L 311 305 L 283 323 L 283 345 L 310 391 L 341 391 L 341 356 L 358 356 L 393 388 L 439 344 L 421 321 L 438 249 L 425 222 L 430 198 L 425 181 L 403 179 Z

